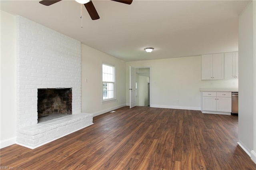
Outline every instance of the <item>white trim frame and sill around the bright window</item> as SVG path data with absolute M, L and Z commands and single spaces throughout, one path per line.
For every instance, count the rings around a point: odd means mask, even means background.
M 103 64 L 114 67 L 114 98 L 112 98 L 112 99 L 103 100 L 103 81 L 102 81 L 102 65 Z M 112 83 L 112 82 L 110 82 L 110 83 Z M 101 63 L 101 103 L 105 104 L 105 103 L 112 103 L 112 102 L 117 102 L 117 99 L 116 99 L 116 66 L 111 63 L 108 63 L 108 62 L 102 62 Z

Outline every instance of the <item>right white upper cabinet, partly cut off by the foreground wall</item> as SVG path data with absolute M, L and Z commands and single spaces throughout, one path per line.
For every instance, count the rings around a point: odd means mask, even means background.
M 225 79 L 238 79 L 238 52 L 224 53 Z

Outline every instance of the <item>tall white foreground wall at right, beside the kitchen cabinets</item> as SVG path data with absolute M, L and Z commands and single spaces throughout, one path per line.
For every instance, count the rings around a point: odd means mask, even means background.
M 248 154 L 253 149 L 253 10 L 252 3 L 239 17 L 238 33 L 238 70 L 239 70 L 239 101 L 238 101 L 238 140 L 240 146 Z

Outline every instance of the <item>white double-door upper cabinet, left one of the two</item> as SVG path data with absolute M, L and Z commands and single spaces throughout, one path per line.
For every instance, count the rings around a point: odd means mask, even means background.
M 202 55 L 202 80 L 224 79 L 224 53 Z

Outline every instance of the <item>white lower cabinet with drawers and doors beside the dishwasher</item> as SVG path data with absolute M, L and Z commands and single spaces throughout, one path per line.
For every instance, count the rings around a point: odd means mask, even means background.
M 202 112 L 231 113 L 231 92 L 202 92 Z

